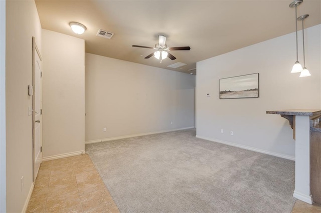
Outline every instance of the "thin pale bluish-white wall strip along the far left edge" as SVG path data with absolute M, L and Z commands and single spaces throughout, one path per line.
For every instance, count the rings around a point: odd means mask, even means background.
M 0 1 L 0 212 L 6 212 L 6 1 Z

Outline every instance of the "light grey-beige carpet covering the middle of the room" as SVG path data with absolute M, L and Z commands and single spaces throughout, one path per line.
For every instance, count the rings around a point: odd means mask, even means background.
M 86 144 L 121 212 L 291 212 L 294 161 L 181 130 Z

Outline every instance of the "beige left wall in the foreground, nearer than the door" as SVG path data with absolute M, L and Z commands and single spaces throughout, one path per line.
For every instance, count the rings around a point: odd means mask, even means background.
M 33 0 L 6 1 L 7 212 L 21 212 L 33 184 L 32 36 L 41 51 L 41 25 Z M 21 188 L 21 177 L 24 187 Z

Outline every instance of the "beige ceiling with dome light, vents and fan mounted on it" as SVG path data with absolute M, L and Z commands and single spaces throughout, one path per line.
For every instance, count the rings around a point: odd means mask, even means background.
M 85 51 L 145 65 L 196 74 L 196 62 L 295 31 L 291 0 L 36 0 L 42 28 L 85 39 Z M 304 27 L 321 23 L 321 0 L 304 0 L 297 15 L 309 14 Z M 77 35 L 69 23 L 87 30 Z M 113 32 L 111 39 L 96 36 L 98 29 Z M 301 24 L 298 22 L 298 29 Z M 160 63 L 144 57 L 158 34 L 167 36 L 175 60 Z M 293 40 L 295 45 L 295 40 Z M 293 58 L 294 59 L 294 58 Z M 187 65 L 170 68 L 183 62 Z M 194 70 L 192 70 L 194 69 Z

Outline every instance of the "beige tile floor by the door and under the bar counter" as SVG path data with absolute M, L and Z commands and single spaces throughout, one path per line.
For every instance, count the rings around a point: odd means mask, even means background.
M 41 163 L 27 212 L 119 212 L 88 154 Z M 292 213 L 321 212 L 297 200 Z

